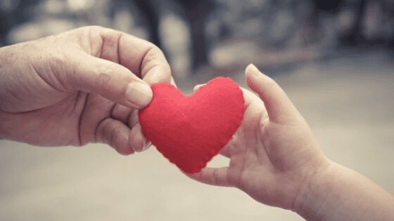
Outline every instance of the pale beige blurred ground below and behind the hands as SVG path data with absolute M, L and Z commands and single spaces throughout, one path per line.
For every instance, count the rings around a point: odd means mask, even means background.
M 388 56 L 370 53 L 296 65 L 274 76 L 324 153 L 389 192 L 393 69 Z M 243 73 L 233 78 L 245 87 Z M 203 80 L 178 84 L 190 92 L 189 85 Z M 210 164 L 224 163 L 217 157 Z M 40 148 L 2 140 L 0 174 L 0 220 L 303 220 L 237 189 L 195 182 L 154 147 L 120 156 L 106 145 Z

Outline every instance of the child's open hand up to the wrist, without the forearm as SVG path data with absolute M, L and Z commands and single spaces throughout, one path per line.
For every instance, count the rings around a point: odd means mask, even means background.
M 229 157 L 229 166 L 188 175 L 210 185 L 238 187 L 261 203 L 292 209 L 303 185 L 329 161 L 274 80 L 249 65 L 246 82 L 262 100 L 242 88 L 243 123 L 221 152 Z

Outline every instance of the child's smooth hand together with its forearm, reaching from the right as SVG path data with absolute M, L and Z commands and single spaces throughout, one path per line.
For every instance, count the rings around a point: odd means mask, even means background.
M 394 220 L 393 194 L 326 158 L 303 116 L 279 85 L 246 68 L 245 116 L 221 154 L 229 166 L 187 174 L 210 185 L 237 187 L 269 206 L 307 220 Z M 197 89 L 199 86 L 196 86 Z

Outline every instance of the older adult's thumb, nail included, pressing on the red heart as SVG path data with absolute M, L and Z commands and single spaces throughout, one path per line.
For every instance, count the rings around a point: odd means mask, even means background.
M 68 73 L 72 89 L 96 93 L 135 109 L 151 102 L 153 92 L 149 84 L 126 67 L 91 55 L 81 56 L 76 59 L 75 69 Z

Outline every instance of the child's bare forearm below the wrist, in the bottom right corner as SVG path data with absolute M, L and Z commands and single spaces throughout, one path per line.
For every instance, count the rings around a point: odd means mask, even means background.
M 394 220 L 394 196 L 364 175 L 330 163 L 312 177 L 293 208 L 306 220 Z

